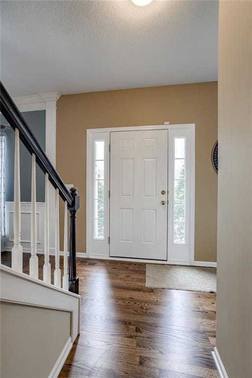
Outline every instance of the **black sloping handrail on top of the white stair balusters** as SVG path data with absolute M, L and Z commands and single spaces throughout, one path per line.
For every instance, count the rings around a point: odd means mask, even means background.
M 73 197 L 69 190 L 63 183 L 62 178 L 54 168 L 53 164 L 45 154 L 44 150 L 41 148 L 40 144 L 36 140 L 32 130 L 27 125 L 24 117 L 18 110 L 17 106 L 13 102 L 12 98 L 4 88 L 3 84 L 0 82 L 0 110 L 4 118 L 7 120 L 9 125 L 15 131 L 16 128 L 19 129 L 19 138 L 26 146 L 27 150 L 31 154 L 35 154 L 36 163 L 42 169 L 44 173 L 48 173 L 49 180 L 55 189 L 59 189 L 59 194 L 64 201 L 67 201 L 68 205 L 71 206 L 73 202 Z

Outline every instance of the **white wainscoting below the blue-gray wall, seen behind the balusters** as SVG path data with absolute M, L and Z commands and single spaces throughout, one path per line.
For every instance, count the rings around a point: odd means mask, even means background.
M 21 244 L 24 252 L 31 251 L 31 202 L 21 202 Z M 36 204 L 36 221 L 37 221 L 37 253 L 44 252 L 44 202 Z M 5 202 L 5 222 L 6 222 L 6 250 L 13 247 L 13 216 L 14 202 Z

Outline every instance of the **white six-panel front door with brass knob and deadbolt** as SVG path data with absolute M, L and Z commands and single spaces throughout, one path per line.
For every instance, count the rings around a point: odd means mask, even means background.
M 110 256 L 167 259 L 168 130 L 110 133 Z

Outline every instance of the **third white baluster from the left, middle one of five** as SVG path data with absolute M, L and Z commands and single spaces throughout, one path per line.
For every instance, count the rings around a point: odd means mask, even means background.
M 49 260 L 49 180 L 48 173 L 45 174 L 45 235 L 44 235 L 44 253 L 45 253 L 45 262 L 43 266 L 43 280 L 47 284 L 51 284 L 51 264 Z

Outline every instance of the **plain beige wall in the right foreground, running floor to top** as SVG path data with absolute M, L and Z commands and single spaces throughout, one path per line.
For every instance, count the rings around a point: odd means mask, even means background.
M 252 377 L 252 1 L 220 2 L 217 348 Z

